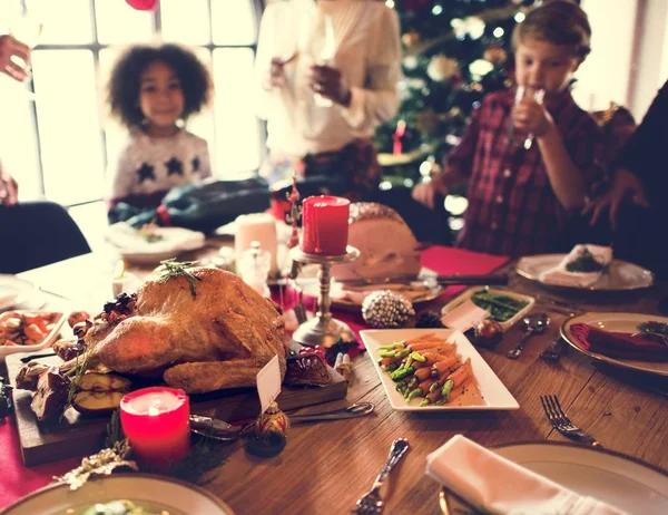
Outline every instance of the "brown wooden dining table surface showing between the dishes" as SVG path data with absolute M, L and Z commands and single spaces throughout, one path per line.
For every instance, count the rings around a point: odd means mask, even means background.
M 217 244 L 217 243 L 216 243 Z M 207 250 L 206 253 L 214 252 Z M 81 256 L 22 274 L 38 285 L 49 278 L 86 281 Z M 79 260 L 79 261 L 77 261 Z M 567 349 L 548 363 L 539 353 L 559 333 L 568 319 L 571 302 L 577 310 L 657 314 L 659 301 L 668 294 L 668 282 L 651 289 L 596 295 L 568 297 L 544 290 L 514 273 L 514 262 L 499 272 L 510 274 L 509 288 L 537 299 L 533 311 L 549 313 L 549 329 L 532 338 L 520 359 L 507 352 L 522 336 L 514 327 L 492 350 L 479 349 L 484 360 L 514 396 L 520 409 L 512 411 L 404 412 L 390 406 L 373 367 L 373 356 L 353 359 L 345 400 L 303 408 L 316 412 L 360 401 L 373 402 L 371 416 L 328 422 L 294 425 L 285 449 L 273 458 L 247 454 L 242 444 L 230 446 L 227 459 L 215 470 L 205 488 L 215 493 L 237 514 L 334 514 L 347 513 L 372 485 L 395 438 L 406 438 L 410 449 L 393 472 L 385 493 L 386 513 L 439 514 L 439 485 L 424 475 L 426 456 L 452 436 L 462 434 L 483 446 L 511 443 L 569 441 L 546 418 L 539 396 L 558 395 L 571 420 L 595 436 L 609 450 L 668 469 L 668 402 L 655 379 L 647 376 L 603 370 L 590 358 Z M 139 278 L 149 268 L 130 268 Z M 77 276 L 67 274 L 77 271 Z M 65 278 L 63 278 L 65 275 Z M 48 281 L 47 281 L 48 282 Z M 47 285 L 43 285 L 48 290 Z M 65 297 L 65 295 L 63 295 Z M 444 299 L 425 309 L 440 309 Z

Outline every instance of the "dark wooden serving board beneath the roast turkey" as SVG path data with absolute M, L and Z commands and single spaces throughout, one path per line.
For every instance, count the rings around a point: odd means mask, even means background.
M 6 358 L 7 371 L 12 386 L 16 386 L 17 373 L 24 365 L 21 362 L 21 358 L 28 356 L 30 353 L 22 352 Z M 58 357 L 40 358 L 37 361 L 47 365 L 62 362 Z M 334 369 L 327 368 L 332 381 L 325 387 L 289 388 L 284 386 L 276 399 L 281 409 L 287 411 L 345 398 L 347 381 Z M 108 415 L 88 417 L 69 408 L 60 424 L 47 426 L 38 424 L 30 409 L 31 391 L 14 389 L 12 397 L 24 465 L 57 461 L 100 450 L 109 422 Z M 257 390 L 254 388 L 191 395 L 190 410 L 193 414 L 215 416 L 227 421 L 246 420 L 253 419 L 259 414 L 259 399 Z

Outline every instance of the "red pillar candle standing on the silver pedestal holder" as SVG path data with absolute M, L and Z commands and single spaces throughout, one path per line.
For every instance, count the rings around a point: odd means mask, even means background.
M 302 204 L 302 250 L 342 255 L 347 246 L 351 202 L 338 196 L 310 196 Z

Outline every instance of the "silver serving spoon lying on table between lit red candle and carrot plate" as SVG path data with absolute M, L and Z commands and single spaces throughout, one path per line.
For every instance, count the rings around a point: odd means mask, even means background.
M 345 418 L 364 417 L 371 414 L 375 406 L 371 402 L 356 402 L 343 409 L 333 411 L 323 411 L 311 415 L 289 415 L 291 424 L 311 422 L 323 420 L 342 420 Z M 244 436 L 244 434 L 255 427 L 255 422 L 245 426 L 233 426 L 225 420 L 204 417 L 202 415 L 190 415 L 190 430 L 199 436 L 214 438 L 220 441 L 234 441 Z

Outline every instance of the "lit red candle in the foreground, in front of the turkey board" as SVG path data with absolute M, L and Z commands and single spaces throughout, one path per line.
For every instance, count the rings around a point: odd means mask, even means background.
M 120 425 L 140 461 L 164 468 L 190 449 L 190 402 L 184 390 L 151 387 L 120 401 Z

